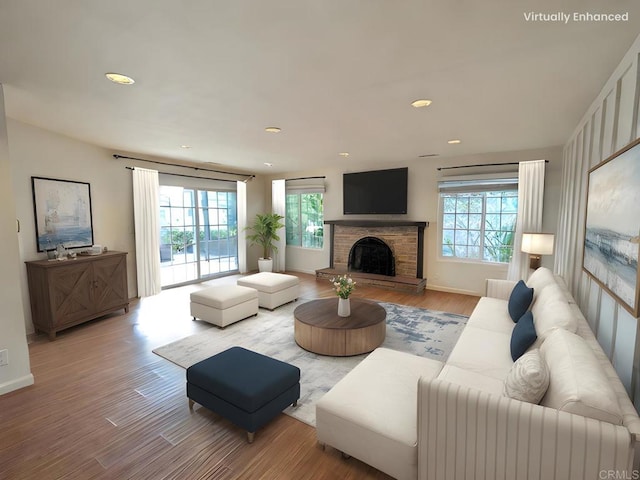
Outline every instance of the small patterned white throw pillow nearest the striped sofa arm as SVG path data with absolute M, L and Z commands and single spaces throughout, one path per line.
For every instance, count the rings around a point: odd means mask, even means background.
M 503 394 L 515 400 L 539 403 L 549 387 L 549 369 L 540 356 L 540 350 L 533 349 L 523 354 L 511 367 L 504 379 Z

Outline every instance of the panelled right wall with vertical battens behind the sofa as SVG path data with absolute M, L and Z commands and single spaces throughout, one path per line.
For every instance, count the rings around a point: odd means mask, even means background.
M 567 279 L 603 350 L 635 401 L 636 408 L 640 408 L 640 336 L 637 319 L 583 272 L 582 247 L 589 169 L 640 136 L 639 55 L 640 37 L 626 53 L 565 146 L 566 188 L 558 226 L 564 234 L 564 253 L 557 264 L 557 270 Z M 574 199 L 577 205 L 571 208 Z

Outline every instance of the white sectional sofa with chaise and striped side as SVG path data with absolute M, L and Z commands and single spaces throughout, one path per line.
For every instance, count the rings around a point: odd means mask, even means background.
M 505 394 L 526 370 L 510 352 L 514 282 L 489 280 L 445 363 L 375 350 L 317 403 L 318 441 L 398 479 L 640 478 L 640 418 L 584 316 L 550 270 L 526 283 L 540 404 Z

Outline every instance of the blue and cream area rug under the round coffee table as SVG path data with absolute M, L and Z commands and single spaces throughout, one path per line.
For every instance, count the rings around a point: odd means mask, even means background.
M 300 348 L 293 337 L 293 310 L 305 300 L 283 305 L 273 312 L 260 309 L 251 317 L 225 329 L 212 326 L 201 332 L 158 347 L 153 352 L 187 368 L 229 347 L 238 345 L 300 368 L 300 400 L 284 413 L 315 426 L 315 404 L 365 355 L 327 357 Z M 446 360 L 462 332 L 467 317 L 423 308 L 380 302 L 387 311 L 383 347 Z

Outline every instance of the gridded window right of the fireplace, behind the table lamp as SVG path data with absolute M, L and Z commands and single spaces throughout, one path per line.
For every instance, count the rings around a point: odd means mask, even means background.
M 508 263 L 518 214 L 517 178 L 448 179 L 439 183 L 441 254 Z

